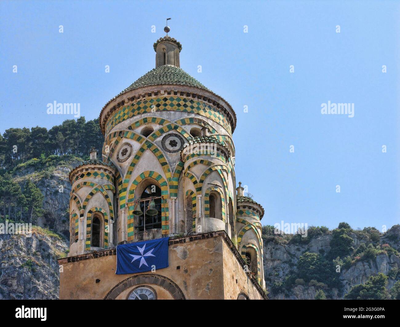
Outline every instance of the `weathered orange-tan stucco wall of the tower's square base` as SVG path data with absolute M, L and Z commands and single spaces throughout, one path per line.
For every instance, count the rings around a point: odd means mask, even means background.
M 157 270 L 154 274 L 173 281 L 186 299 L 236 299 L 241 291 L 251 299 L 260 299 L 260 293 L 220 233 L 223 232 L 212 233 L 212 236 L 209 236 L 211 233 L 198 235 L 199 239 L 192 241 L 190 239 L 193 237 L 184 237 L 179 239 L 180 243 L 169 245 L 169 267 Z M 209 238 L 200 239 L 204 235 Z M 110 290 L 128 277 L 141 275 L 115 275 L 116 255 L 89 256 L 94 258 L 76 262 L 67 262 L 68 258 L 59 260 L 63 267 L 60 273 L 60 299 L 104 299 Z M 96 279 L 100 282 L 96 283 Z M 116 299 L 125 299 L 131 289 L 141 284 L 127 285 Z M 160 287 L 145 284 L 154 289 Z M 158 299 L 172 296 L 168 289 L 157 291 L 157 295 Z

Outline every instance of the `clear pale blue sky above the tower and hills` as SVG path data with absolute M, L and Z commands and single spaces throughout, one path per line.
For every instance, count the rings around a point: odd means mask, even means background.
M 395 1 L 2 1 L 0 132 L 60 124 L 69 117 L 47 115 L 53 101 L 98 117 L 154 68 L 167 17 L 181 67 L 236 110 L 237 181 L 264 206 L 264 225 L 400 222 Z M 354 118 L 322 115 L 328 101 L 354 103 Z

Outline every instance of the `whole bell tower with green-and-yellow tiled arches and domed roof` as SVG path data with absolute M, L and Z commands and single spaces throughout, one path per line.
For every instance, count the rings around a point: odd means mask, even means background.
M 240 183 L 236 195 L 236 114 L 180 68 L 182 45 L 164 31 L 156 68 L 102 108 L 101 155 L 70 173 L 60 299 L 267 299 L 264 210 Z M 116 246 L 150 253 L 153 240 L 168 243 L 167 266 L 154 249 L 148 270 L 115 273 Z

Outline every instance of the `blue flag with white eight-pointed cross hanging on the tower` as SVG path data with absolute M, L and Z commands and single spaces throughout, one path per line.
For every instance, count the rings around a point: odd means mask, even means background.
M 117 275 L 168 267 L 168 239 L 163 237 L 117 245 Z

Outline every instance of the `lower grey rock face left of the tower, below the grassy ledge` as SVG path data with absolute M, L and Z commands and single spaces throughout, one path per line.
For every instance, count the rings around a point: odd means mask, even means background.
M 35 228 L 32 236 L 0 235 L 0 299 L 58 299 L 57 259 L 68 244 Z

